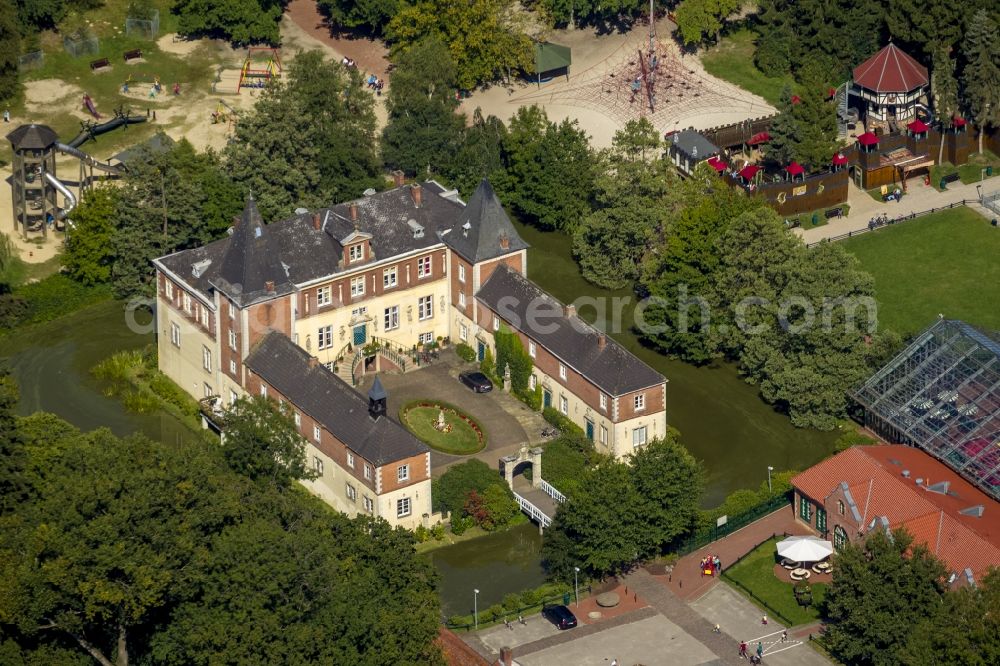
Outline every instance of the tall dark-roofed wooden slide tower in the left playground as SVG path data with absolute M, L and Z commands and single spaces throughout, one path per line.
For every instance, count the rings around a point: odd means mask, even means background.
M 7 135 L 14 150 L 11 163 L 11 200 L 14 204 L 14 228 L 28 238 L 29 233 L 48 235 L 49 219 L 59 217 L 56 201 L 56 142 L 59 137 L 46 125 L 21 125 Z M 58 185 L 57 185 L 58 184 Z M 63 192 L 63 196 L 69 191 Z M 67 197 L 75 203 L 72 194 Z

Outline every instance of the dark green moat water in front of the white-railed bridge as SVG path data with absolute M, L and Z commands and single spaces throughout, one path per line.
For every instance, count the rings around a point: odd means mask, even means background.
M 511 592 L 545 582 L 542 537 L 534 523 L 438 548 L 427 554 L 441 574 L 441 612 L 446 617 L 472 613 L 473 590 L 479 608 L 503 601 Z

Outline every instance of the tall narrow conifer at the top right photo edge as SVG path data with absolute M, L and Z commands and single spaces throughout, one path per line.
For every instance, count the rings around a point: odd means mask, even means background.
M 965 103 L 979 129 L 979 152 L 983 152 L 983 132 L 1000 124 L 1000 41 L 997 24 L 989 12 L 980 9 L 969 21 L 962 44 L 965 69 L 962 71 Z

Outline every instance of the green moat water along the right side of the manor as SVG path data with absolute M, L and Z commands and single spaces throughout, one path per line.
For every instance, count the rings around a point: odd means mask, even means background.
M 515 225 L 531 245 L 532 280 L 564 303 L 581 297 L 628 299 L 621 320 L 631 324 L 635 296 L 629 290 L 605 290 L 584 280 L 573 261 L 569 238 Z M 590 322 L 596 318 L 591 307 L 579 314 Z M 768 465 L 776 470 L 805 469 L 833 451 L 837 433 L 795 428 L 760 399 L 734 366 L 695 367 L 667 358 L 642 346 L 628 326 L 623 328 L 612 332 L 613 337 L 667 378 L 667 422 L 681 431 L 684 445 L 705 464 L 705 506 L 718 505 L 733 490 L 758 486 L 767 479 Z

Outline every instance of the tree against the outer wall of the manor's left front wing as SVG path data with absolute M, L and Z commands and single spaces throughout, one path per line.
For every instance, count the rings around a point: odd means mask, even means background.
M 240 398 L 226 412 L 222 452 L 233 471 L 278 488 L 317 476 L 291 408 L 261 396 Z

